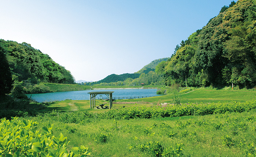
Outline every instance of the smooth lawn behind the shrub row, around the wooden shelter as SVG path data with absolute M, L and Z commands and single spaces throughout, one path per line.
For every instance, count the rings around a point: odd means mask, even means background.
M 114 95 L 114 94 L 113 94 Z M 181 103 L 217 103 L 217 102 L 245 102 L 256 98 L 256 92 L 254 91 L 227 91 L 227 90 L 205 90 L 196 89 L 191 90 L 188 93 L 179 93 L 181 97 Z M 113 96 L 114 97 L 114 96 Z M 172 103 L 174 95 L 164 95 L 149 98 L 129 99 L 129 100 L 115 100 L 112 109 L 119 109 L 129 106 L 154 106 L 164 102 Z M 99 104 L 106 104 L 109 106 L 109 101 L 96 100 L 96 106 Z M 105 112 L 109 109 L 90 109 L 90 100 L 65 100 L 54 102 L 48 107 L 48 111 L 53 109 L 63 111 L 84 111 L 89 112 Z

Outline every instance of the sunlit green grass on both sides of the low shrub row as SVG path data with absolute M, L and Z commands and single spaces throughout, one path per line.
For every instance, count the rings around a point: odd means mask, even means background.
M 232 104 L 229 102 L 253 100 L 256 92 L 196 89 L 189 93 L 178 93 L 178 95 L 181 96 L 182 103 L 227 102 L 225 104 Z M 150 107 L 163 102 L 172 103 L 173 98 L 174 95 L 170 94 L 141 99 L 115 100 L 111 110 L 131 106 Z M 99 104 L 109 106 L 109 101 L 96 100 L 96 106 Z M 54 123 L 54 134 L 62 132 L 71 141 L 69 149 L 85 145 L 89 147 L 91 156 L 95 157 L 155 157 L 152 152 L 141 149 L 148 142 L 159 142 L 164 148 L 175 148 L 176 144 L 184 144 L 183 156 L 193 157 L 242 157 L 256 149 L 252 146 L 256 134 L 255 109 L 242 113 L 226 112 L 206 116 L 192 114 L 193 116 L 150 119 L 137 117 L 137 119 L 129 120 L 101 119 L 100 114 L 94 114 L 94 117 L 81 118 L 76 122 L 70 121 L 75 116 L 79 117 L 78 115 L 84 117 L 84 114 L 79 114 L 83 113 L 80 111 L 102 113 L 110 109 L 95 107 L 90 109 L 90 100 L 58 101 L 50 104 L 48 111 L 54 109 L 72 112 L 64 114 L 50 112 L 29 118 L 38 121 L 39 128 Z

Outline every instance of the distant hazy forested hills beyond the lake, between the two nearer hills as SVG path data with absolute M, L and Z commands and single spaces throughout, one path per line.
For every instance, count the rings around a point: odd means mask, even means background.
M 87 85 L 95 84 L 107 84 L 107 85 L 138 85 L 140 83 L 146 84 L 162 84 L 162 75 L 155 73 L 156 66 L 162 61 L 166 61 L 169 58 L 156 59 L 151 61 L 150 64 L 145 65 L 142 69 L 135 73 L 124 73 L 121 75 L 111 74 L 104 79 L 96 82 L 89 82 Z M 113 83 L 115 82 L 115 83 Z M 118 82 L 118 83 L 116 83 Z M 160 83 L 161 82 L 161 83 Z

